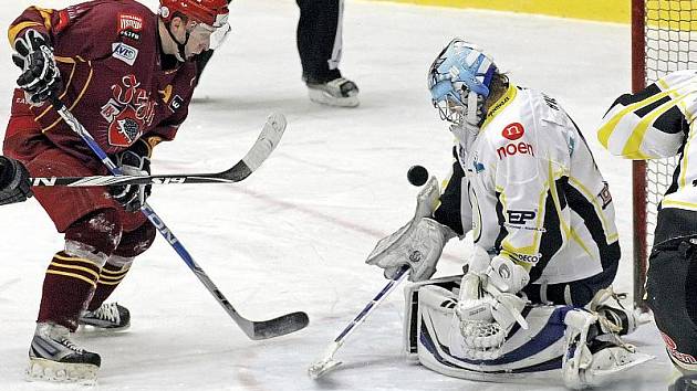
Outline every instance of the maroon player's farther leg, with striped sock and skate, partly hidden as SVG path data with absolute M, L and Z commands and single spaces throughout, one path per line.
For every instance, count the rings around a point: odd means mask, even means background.
M 137 213 L 137 215 L 143 214 Z M 131 219 L 135 220 L 137 215 L 131 216 Z M 124 279 L 135 257 L 150 247 L 155 236 L 155 226 L 147 220 L 143 221 L 135 230 L 123 233 L 118 246 L 102 267 L 87 310 L 80 316 L 80 325 L 83 328 L 87 327 L 97 331 L 122 331 L 131 326 L 128 309 L 117 303 L 105 303 L 105 300 Z

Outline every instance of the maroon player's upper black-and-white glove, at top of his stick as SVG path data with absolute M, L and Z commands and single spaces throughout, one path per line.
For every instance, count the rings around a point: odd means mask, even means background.
M 29 104 L 41 105 L 61 88 L 53 49 L 46 36 L 30 29 L 14 41 L 14 50 L 12 61 L 22 68 L 17 85 L 24 89 Z

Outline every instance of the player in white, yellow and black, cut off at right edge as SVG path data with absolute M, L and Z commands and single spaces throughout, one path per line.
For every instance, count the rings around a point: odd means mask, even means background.
M 697 376 L 696 114 L 697 71 L 678 71 L 636 94 L 620 96 L 597 129 L 600 142 L 613 155 L 635 160 L 678 158 L 658 205 L 645 299 L 676 373 L 693 379 Z M 693 387 L 697 389 L 697 382 Z

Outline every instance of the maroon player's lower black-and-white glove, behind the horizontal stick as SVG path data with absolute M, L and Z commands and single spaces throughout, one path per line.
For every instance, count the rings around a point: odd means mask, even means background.
M 125 176 L 149 176 L 149 147 L 141 139 L 131 148 L 116 154 L 116 165 Z M 124 184 L 110 188 L 112 198 L 122 204 L 127 212 L 135 212 L 145 204 L 152 192 L 150 184 Z

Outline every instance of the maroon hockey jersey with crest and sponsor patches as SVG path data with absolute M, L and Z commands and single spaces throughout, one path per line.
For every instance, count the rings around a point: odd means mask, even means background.
M 61 101 L 114 154 L 138 138 L 150 145 L 173 139 L 188 113 L 195 62 L 163 54 L 157 21 L 133 0 L 94 0 L 64 10 L 30 7 L 11 24 L 9 39 L 13 43 L 27 29 L 50 38 L 63 81 Z M 6 151 L 31 159 L 58 147 L 86 166 L 101 166 L 49 103 L 31 107 L 15 91 L 12 116 L 29 113 L 39 126 L 8 128 Z

